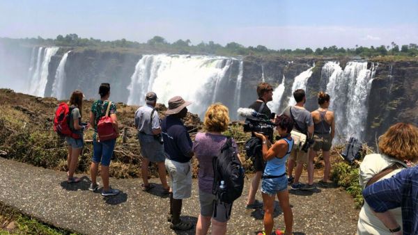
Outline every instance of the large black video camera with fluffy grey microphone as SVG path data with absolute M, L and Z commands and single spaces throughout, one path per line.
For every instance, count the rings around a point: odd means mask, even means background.
M 257 113 L 252 108 L 238 108 L 238 115 L 246 117 L 244 124 L 244 131 L 254 131 L 263 133 L 263 135 L 268 136 L 268 139 L 273 141 L 273 132 L 276 125 L 270 121 L 271 117 L 263 113 Z M 274 116 L 275 113 L 272 113 Z

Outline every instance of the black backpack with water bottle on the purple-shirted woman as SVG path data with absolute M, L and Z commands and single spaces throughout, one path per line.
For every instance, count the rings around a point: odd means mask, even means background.
M 226 140 L 212 163 L 214 173 L 212 193 L 217 195 L 221 202 L 232 203 L 241 196 L 244 188 L 244 170 L 238 159 L 238 152 L 235 152 L 232 146 L 232 138 Z M 221 181 L 224 181 L 225 188 L 219 188 Z

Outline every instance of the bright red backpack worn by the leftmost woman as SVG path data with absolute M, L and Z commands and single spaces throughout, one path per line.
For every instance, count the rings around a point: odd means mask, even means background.
M 75 139 L 82 138 L 82 136 L 72 132 L 70 129 L 71 111 L 72 108 L 70 108 L 67 103 L 62 102 L 59 104 L 55 111 L 54 131 L 56 131 L 56 133 L 58 133 L 60 136 L 69 136 Z

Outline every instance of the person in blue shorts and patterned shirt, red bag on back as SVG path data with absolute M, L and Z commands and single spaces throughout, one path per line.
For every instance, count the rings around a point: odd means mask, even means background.
M 110 84 L 102 83 L 99 88 L 100 99 L 93 102 L 90 112 L 90 123 L 94 128 L 93 134 L 93 159 L 91 162 L 91 185 L 89 191 L 98 190 L 96 181 L 99 163 L 102 164 L 102 196 L 117 195 L 119 191 L 109 186 L 109 165 L 114 152 L 116 138 L 118 137 L 118 118 L 116 117 L 116 105 L 110 102 Z M 106 133 L 106 134 L 102 134 Z

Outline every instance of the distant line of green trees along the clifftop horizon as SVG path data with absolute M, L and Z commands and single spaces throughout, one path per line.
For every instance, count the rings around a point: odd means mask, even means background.
M 263 45 L 256 47 L 245 47 L 237 42 L 229 42 L 225 46 L 215 42 L 201 42 L 199 44 L 191 44 L 190 40 L 176 40 L 176 42 L 169 43 L 161 36 L 154 36 L 147 42 L 133 42 L 125 40 L 102 41 L 94 38 L 79 38 L 75 33 L 68 35 L 58 35 L 55 39 L 52 38 L 24 38 L 24 39 L 10 39 L 0 38 L 0 42 L 10 44 L 28 44 L 39 46 L 59 46 L 59 47 L 95 47 L 100 49 L 119 49 L 129 51 L 141 51 L 146 53 L 171 53 L 171 54 L 213 54 L 220 56 L 361 56 L 361 57 L 376 57 L 376 56 L 395 56 L 398 58 L 415 57 L 418 56 L 418 45 L 415 43 L 403 44 L 399 46 L 395 42 L 391 45 L 380 45 L 379 47 L 359 47 L 343 48 L 343 47 L 323 47 L 311 49 L 268 49 Z M 401 47 L 401 49 L 399 49 Z

